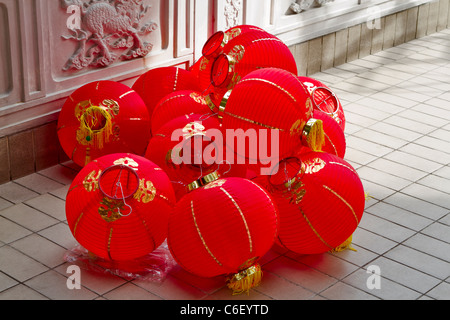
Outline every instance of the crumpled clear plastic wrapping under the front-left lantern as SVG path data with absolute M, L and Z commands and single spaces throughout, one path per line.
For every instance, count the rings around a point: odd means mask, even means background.
M 116 275 L 127 280 L 163 281 L 176 264 L 167 241 L 151 253 L 129 261 L 111 261 L 94 255 L 81 245 L 68 250 L 64 255 L 68 263 L 81 269 Z

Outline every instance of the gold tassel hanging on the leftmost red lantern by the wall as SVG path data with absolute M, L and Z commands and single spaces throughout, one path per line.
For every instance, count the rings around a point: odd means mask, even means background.
M 80 117 L 80 134 L 87 143 L 92 143 L 96 148 L 102 149 L 105 142 L 109 142 L 113 134 L 112 116 L 104 108 L 91 106 Z

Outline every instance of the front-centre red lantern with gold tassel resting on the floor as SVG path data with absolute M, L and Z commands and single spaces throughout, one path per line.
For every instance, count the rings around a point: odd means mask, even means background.
M 277 235 L 277 208 L 259 185 L 210 174 L 191 184 L 169 218 L 167 243 L 186 271 L 201 277 L 229 275 L 234 293 L 261 279 L 258 260 Z

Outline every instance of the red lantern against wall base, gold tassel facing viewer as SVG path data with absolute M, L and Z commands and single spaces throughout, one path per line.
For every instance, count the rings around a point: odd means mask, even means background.
M 79 166 L 111 153 L 143 155 L 150 139 L 150 116 L 128 86 L 97 81 L 73 92 L 61 108 L 58 138 Z

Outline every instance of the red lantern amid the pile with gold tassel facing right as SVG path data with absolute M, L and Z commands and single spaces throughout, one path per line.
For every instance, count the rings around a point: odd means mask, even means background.
M 277 68 L 253 71 L 225 97 L 227 100 L 216 109 L 223 129 L 256 132 L 260 148 L 267 147 L 265 152 L 258 152 L 258 160 L 278 162 L 302 145 L 320 150 L 324 142 L 322 121 L 312 119 L 310 95 L 296 75 Z M 272 139 L 272 131 L 278 132 L 278 138 Z M 249 147 L 245 155 L 238 156 L 251 160 Z

